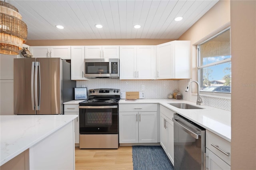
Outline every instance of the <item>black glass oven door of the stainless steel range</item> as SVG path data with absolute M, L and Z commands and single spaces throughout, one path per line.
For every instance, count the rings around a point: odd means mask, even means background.
M 118 134 L 118 105 L 79 106 L 80 134 Z

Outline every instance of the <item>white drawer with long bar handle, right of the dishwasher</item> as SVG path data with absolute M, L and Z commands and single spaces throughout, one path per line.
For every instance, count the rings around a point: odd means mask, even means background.
M 219 149 L 217 149 L 216 147 Z M 220 136 L 206 130 L 206 148 L 211 150 L 214 154 L 224 160 L 230 165 L 231 162 L 231 144 L 228 140 L 221 138 Z M 226 154 L 229 155 L 226 155 Z

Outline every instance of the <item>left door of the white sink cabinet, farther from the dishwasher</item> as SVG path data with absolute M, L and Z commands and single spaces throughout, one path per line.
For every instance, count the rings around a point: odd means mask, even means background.
M 160 113 L 160 144 L 164 151 L 168 153 L 168 133 L 165 127 L 166 116 Z

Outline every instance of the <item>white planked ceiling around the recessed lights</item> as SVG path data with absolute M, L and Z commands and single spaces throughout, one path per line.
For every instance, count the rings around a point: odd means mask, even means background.
M 218 0 L 7 0 L 28 40 L 178 39 Z M 182 16 L 180 22 L 174 21 Z M 98 29 L 95 24 L 102 24 Z M 140 29 L 133 28 L 141 25 Z M 64 26 L 63 30 L 55 25 Z

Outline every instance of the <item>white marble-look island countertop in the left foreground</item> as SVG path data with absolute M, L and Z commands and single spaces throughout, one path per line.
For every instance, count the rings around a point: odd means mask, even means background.
M 76 117 L 78 115 L 0 116 L 0 166 L 68 124 Z

